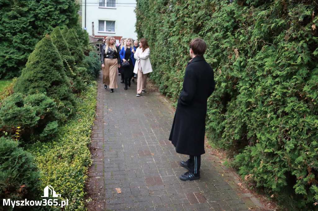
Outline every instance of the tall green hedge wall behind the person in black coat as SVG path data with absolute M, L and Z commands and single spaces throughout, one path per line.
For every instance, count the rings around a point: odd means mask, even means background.
M 317 209 L 316 1 L 137 0 L 135 11 L 159 90 L 176 102 L 189 42 L 204 38 L 216 81 L 208 137 L 281 206 Z

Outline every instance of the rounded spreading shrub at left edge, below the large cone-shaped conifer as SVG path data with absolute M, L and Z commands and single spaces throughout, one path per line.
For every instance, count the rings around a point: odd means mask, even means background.
M 20 127 L 18 139 L 24 142 L 49 139 L 57 131 L 58 121 L 63 119 L 56 103 L 42 93 L 27 96 L 14 93 L 4 100 L 0 109 L 2 131 L 13 137 Z

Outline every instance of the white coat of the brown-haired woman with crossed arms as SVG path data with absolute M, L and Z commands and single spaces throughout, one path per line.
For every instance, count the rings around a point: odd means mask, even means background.
M 138 56 L 139 54 L 139 56 Z M 136 59 L 134 73 L 138 73 L 138 63 L 141 62 L 142 74 L 147 74 L 152 72 L 152 67 L 149 59 L 150 49 L 146 48 L 144 52 L 142 52 L 142 48 L 137 48 L 134 57 Z

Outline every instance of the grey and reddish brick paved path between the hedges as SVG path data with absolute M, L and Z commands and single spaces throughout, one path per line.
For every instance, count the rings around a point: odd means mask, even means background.
M 202 155 L 201 178 L 179 180 L 187 170 L 178 163 L 188 158 L 168 141 L 174 109 L 159 93 L 136 97 L 136 84 L 125 91 L 119 80 L 110 93 L 98 79 L 89 210 L 260 210 L 209 150 Z

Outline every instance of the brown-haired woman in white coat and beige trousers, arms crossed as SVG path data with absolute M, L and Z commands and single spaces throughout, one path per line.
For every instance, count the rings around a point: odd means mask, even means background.
M 152 72 L 152 67 L 149 59 L 150 48 L 148 42 L 145 38 L 140 39 L 139 48 L 137 48 L 134 57 L 136 59 L 134 73 L 137 76 L 137 94 L 136 96 L 141 96 L 141 93 L 146 92 L 147 76 L 148 73 Z

